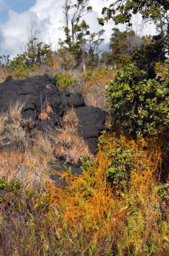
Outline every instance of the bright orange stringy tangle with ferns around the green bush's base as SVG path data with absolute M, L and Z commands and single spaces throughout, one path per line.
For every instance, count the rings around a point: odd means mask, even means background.
M 109 135 L 110 136 L 110 135 Z M 95 165 L 80 177 L 64 174 L 65 189 L 51 189 L 62 216 L 59 237 L 64 255 L 167 255 L 168 214 L 157 190 L 161 150 L 156 141 L 129 141 L 137 168 L 125 187 L 107 181 L 107 150 L 116 147 L 115 134 L 99 149 Z M 155 148 L 156 146 L 156 148 Z M 65 237 L 65 240 L 64 240 Z M 69 253 L 69 254 L 68 254 Z

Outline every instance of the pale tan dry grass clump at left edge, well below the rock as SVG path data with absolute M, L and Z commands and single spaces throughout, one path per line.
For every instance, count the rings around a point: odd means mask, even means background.
M 29 150 L 23 154 L 20 152 L 1 153 L 0 179 L 7 183 L 17 180 L 25 190 L 42 190 L 49 179 L 46 173 L 47 163 L 42 156 L 38 159 L 37 155 L 32 153 Z

